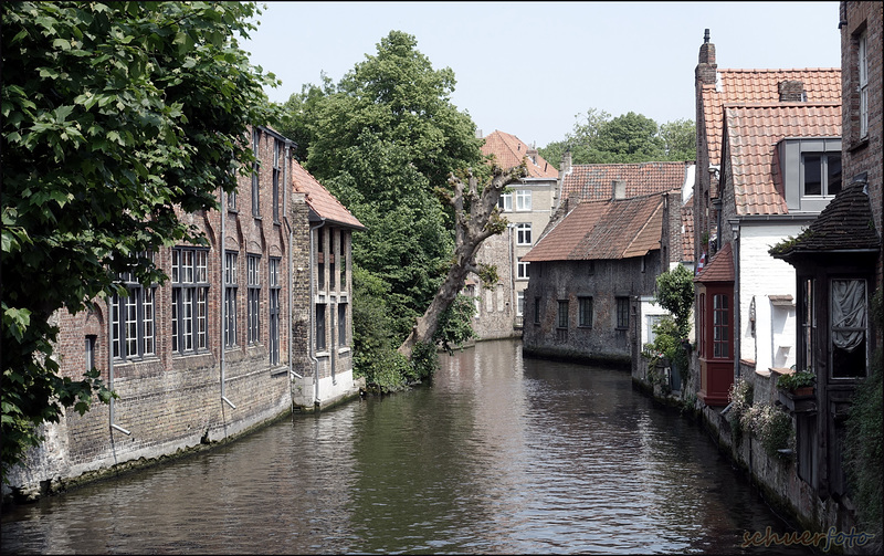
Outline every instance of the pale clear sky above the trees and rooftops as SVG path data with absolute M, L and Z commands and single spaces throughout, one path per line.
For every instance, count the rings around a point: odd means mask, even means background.
M 252 63 L 282 80 L 334 83 L 376 54 L 392 30 L 451 67 L 452 103 L 487 135 L 544 147 L 589 108 L 657 124 L 695 119 L 694 69 L 704 30 L 723 69 L 840 67 L 839 2 L 270 2 Z

